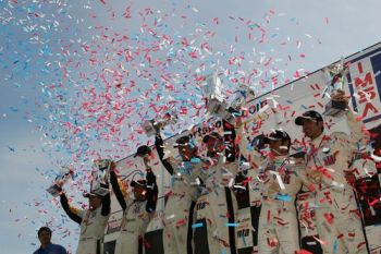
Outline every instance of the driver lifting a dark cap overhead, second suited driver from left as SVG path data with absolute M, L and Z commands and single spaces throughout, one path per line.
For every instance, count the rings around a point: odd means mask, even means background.
M 158 198 L 156 176 L 149 164 L 150 153 L 148 146 L 140 146 L 137 149 L 136 155 L 144 159 L 146 166 L 146 180 L 132 181 L 134 199 L 130 197 L 130 193 L 126 192 L 123 184 L 119 183 L 114 171 L 115 164 L 111 166 L 111 186 L 123 209 L 121 233 L 116 239 L 115 254 L 143 253 L 144 234 L 155 214 Z

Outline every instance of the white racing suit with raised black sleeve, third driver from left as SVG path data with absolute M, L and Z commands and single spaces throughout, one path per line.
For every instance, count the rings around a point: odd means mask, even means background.
M 193 253 L 192 225 L 194 207 L 202 192 L 200 181 L 205 179 L 204 162 L 199 158 L 190 161 L 164 159 L 163 141 L 160 135 L 155 142 L 158 155 L 171 177 L 171 192 L 163 215 L 163 245 L 165 254 Z

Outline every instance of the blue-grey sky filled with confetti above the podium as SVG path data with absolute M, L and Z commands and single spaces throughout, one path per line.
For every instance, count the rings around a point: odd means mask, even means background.
M 81 190 L 72 194 L 79 196 L 87 188 L 84 179 L 94 157 L 125 157 L 137 144 L 147 142 L 137 130 L 142 118 L 153 117 L 148 105 L 168 106 L 172 97 L 180 101 L 176 107 L 194 110 L 192 104 L 200 102 L 200 93 L 196 85 L 190 86 L 193 74 L 218 70 L 223 73 L 229 92 L 234 89 L 234 77 L 256 69 L 263 74 L 258 74 L 250 85 L 259 93 L 259 83 L 265 82 L 265 89 L 271 89 L 276 86 L 269 82 L 273 76 L 281 85 L 296 70 L 302 74 L 315 71 L 341 56 L 379 43 L 380 7 L 377 0 L 0 0 L 2 251 L 33 252 L 38 245 L 36 229 L 47 222 L 56 231 L 53 241 L 75 250 L 75 225 L 45 192 L 59 166 L 74 161 L 78 169 L 74 186 Z M 128 10 L 131 17 L 126 17 Z M 260 28 L 266 32 L 263 43 Z M 121 35 L 130 39 L 119 43 Z M 184 38 L 188 46 L 182 46 Z M 210 48 L 200 49 L 204 43 Z M 137 48 L 152 49 L 155 45 L 157 51 L 150 51 L 153 61 L 171 58 L 160 68 L 153 63 L 149 66 L 143 53 L 133 55 L 135 59 L 130 62 L 118 55 L 121 49 L 130 48 L 136 53 Z M 84 46 L 95 52 L 85 52 Z M 194 51 L 196 56 L 192 58 L 189 53 Z M 230 65 L 229 60 L 234 57 L 244 60 Z M 89 63 L 91 58 L 96 59 L 94 65 Z M 130 94 L 119 96 L 119 87 L 103 87 L 101 74 L 115 85 L 115 76 L 109 76 L 115 70 L 125 70 L 121 84 L 132 89 Z M 228 70 L 233 74 L 224 74 Z M 162 74 L 172 82 L 163 82 Z M 152 82 L 158 84 L 155 90 Z M 171 84 L 174 89 L 168 88 Z M 102 121 L 96 121 L 103 112 L 96 110 L 91 114 L 83 106 L 93 101 L 90 88 L 97 95 L 115 93 L 112 101 L 123 110 L 116 110 L 116 117 L 108 119 L 105 114 Z M 134 99 L 137 102 L 125 102 Z M 96 106 L 116 107 L 101 97 L 97 97 Z M 124 110 L 132 112 L 124 114 Z M 180 128 L 200 120 L 190 116 L 182 116 Z M 111 130 L 107 122 L 114 122 L 118 117 L 123 117 L 122 123 L 118 130 Z

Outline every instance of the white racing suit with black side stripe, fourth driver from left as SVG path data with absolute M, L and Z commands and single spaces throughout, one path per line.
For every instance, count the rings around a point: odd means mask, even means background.
M 230 190 L 238 166 L 224 161 L 220 156 L 217 165 L 207 169 L 207 194 L 198 198 L 196 204 L 197 220 L 206 219 L 209 253 L 236 253 L 235 250 L 235 215 L 237 202 Z M 232 239 L 233 238 L 233 239 Z

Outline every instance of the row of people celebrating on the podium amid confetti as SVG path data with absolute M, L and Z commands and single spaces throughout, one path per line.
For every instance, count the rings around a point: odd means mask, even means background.
M 362 123 L 351 109 L 343 119 L 349 132 L 328 134 L 319 112 L 311 110 L 298 116 L 295 124 L 306 138 L 304 148 L 296 154 L 291 154 L 293 138 L 282 129 L 269 130 L 262 138 L 249 141 L 253 124 L 247 119 L 243 121 L 243 117 L 234 122 L 224 120 L 223 133 L 204 136 L 206 153 L 199 152 L 190 136 L 181 136 L 175 141 L 179 156 L 169 153 L 160 126 L 156 126 L 155 148 L 171 174 L 171 190 L 164 193 L 161 218 L 164 253 L 199 254 L 202 253 L 200 244 L 196 244 L 199 242 L 207 243 L 202 249 L 210 254 L 238 253 L 236 193 L 242 189 L 258 196 L 261 204 L 258 253 L 308 253 L 308 247 L 300 245 L 300 228 L 317 232 L 312 238 L 320 243 L 320 253 L 368 253 L 352 183 L 376 168 L 369 157 L 358 156 L 369 142 Z M 130 183 L 134 198 L 120 180 L 116 164 L 111 164 L 110 188 L 123 209 L 115 254 L 142 253 L 146 229 L 156 213 L 158 185 L 151 168 L 152 150 L 140 146 L 136 156 L 144 161 L 146 178 Z M 249 169 L 238 181 L 243 158 Z M 361 168 L 365 165 L 366 170 Z M 71 206 L 64 191 L 60 194 L 63 209 L 81 227 L 76 253 L 102 253 L 110 194 L 90 192 L 86 197 L 89 208 L 79 210 Z M 207 229 L 207 238 L 201 241 L 194 238 L 198 228 Z M 40 240 L 44 234 L 51 235 L 50 230 L 40 231 Z M 61 252 L 62 249 L 41 241 L 36 253 Z

